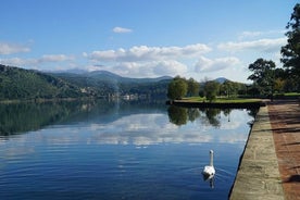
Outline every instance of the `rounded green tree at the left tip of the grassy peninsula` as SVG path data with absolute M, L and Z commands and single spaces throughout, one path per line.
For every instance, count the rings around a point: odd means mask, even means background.
M 177 76 L 167 86 L 167 98 L 172 100 L 182 99 L 187 95 L 187 89 L 186 80 Z

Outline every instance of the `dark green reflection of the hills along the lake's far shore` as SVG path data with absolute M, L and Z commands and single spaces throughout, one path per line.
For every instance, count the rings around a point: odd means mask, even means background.
M 158 107 L 161 104 L 161 107 Z M 155 108 L 155 109 L 154 109 Z M 13 135 L 54 124 L 85 121 L 113 122 L 133 113 L 165 109 L 163 103 L 115 101 L 62 101 L 47 103 L 0 104 L 0 135 Z

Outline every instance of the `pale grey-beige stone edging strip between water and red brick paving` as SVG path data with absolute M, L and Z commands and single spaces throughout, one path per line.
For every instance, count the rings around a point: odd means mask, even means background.
M 255 117 L 229 199 L 285 199 L 267 107 Z

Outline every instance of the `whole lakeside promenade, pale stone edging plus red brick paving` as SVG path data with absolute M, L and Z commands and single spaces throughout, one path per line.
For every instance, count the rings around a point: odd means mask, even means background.
M 261 108 L 249 135 L 230 200 L 300 200 L 300 107 Z

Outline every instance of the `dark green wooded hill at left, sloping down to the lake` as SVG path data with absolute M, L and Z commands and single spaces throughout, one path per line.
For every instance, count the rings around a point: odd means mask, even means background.
M 80 88 L 61 78 L 0 64 L 0 100 L 78 98 L 87 96 Z

